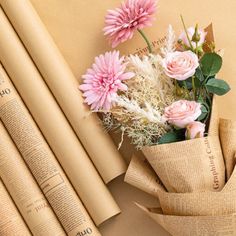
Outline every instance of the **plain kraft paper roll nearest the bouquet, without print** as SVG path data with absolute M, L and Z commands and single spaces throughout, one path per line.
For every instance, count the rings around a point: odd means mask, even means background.
M 83 104 L 78 81 L 30 1 L 1 0 L 0 3 L 104 181 L 107 183 L 123 174 L 124 160 L 97 116 Z

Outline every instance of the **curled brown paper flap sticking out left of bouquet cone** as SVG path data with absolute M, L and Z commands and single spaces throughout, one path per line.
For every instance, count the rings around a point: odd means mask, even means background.
M 125 175 L 125 182 L 154 197 L 158 197 L 160 190 L 165 191 L 150 164 L 139 156 L 132 157 Z

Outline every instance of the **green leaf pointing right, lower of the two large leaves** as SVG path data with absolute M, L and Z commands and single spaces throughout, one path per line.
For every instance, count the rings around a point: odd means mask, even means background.
M 221 79 L 210 79 L 206 83 L 208 92 L 222 96 L 230 91 L 230 86 Z

